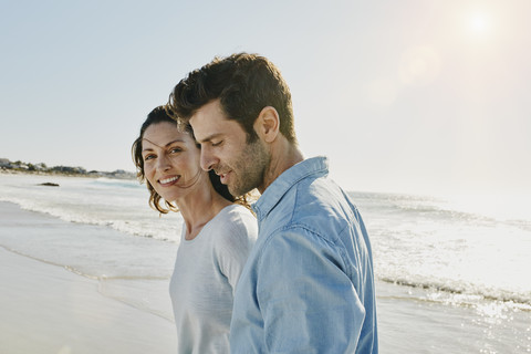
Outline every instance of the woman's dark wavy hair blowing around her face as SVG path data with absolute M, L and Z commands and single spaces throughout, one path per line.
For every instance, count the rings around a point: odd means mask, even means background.
M 142 156 L 142 140 L 144 138 L 144 133 L 146 132 L 146 129 L 150 125 L 163 123 L 163 122 L 175 124 L 176 126 L 179 127 L 179 129 L 181 132 L 190 134 L 191 138 L 195 138 L 194 137 L 194 132 L 192 132 L 191 126 L 189 124 L 177 124 L 177 122 L 168 115 L 165 106 L 158 106 L 147 115 L 146 121 L 144 122 L 144 124 L 140 127 L 140 134 L 138 135 L 138 137 L 133 143 L 133 146 L 131 148 L 131 153 L 132 153 L 132 156 L 133 156 L 133 162 L 135 163 L 135 166 L 136 166 L 136 177 L 138 178 L 138 180 L 140 183 L 145 181 L 146 185 L 147 185 L 147 189 L 149 190 L 149 194 L 150 194 L 149 195 L 149 206 L 153 209 L 158 210 L 162 214 L 168 214 L 169 211 L 179 211 L 179 209 L 177 208 L 177 206 L 175 206 L 170 201 L 164 200 L 164 198 L 160 197 L 160 195 L 157 194 L 155 188 L 153 188 L 149 180 L 146 179 L 146 175 L 145 175 L 145 171 L 144 171 L 144 157 Z M 200 145 L 196 143 L 196 147 L 200 148 Z M 212 184 L 214 189 L 220 196 L 222 196 L 225 199 L 227 199 L 229 201 L 235 201 L 237 204 L 241 204 L 241 205 L 246 206 L 247 208 L 249 208 L 249 204 L 247 201 L 247 195 L 235 198 L 229 192 L 228 187 L 226 185 L 221 184 L 221 181 L 219 179 L 219 176 L 216 175 L 216 173 L 214 170 L 209 170 L 208 176 L 210 178 L 210 183 Z M 165 207 L 160 205 L 162 201 L 164 201 Z

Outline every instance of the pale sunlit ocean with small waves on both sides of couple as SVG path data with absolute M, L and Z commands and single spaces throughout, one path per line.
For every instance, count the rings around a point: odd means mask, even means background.
M 350 195 L 372 240 L 382 353 L 531 353 L 530 209 Z M 136 180 L 0 174 L 0 201 L 39 220 L 32 232 L 0 233 L 0 247 L 95 279 L 103 295 L 173 321 L 167 291 L 181 218 L 159 216 L 147 198 Z M 39 232 L 58 218 L 63 227 Z

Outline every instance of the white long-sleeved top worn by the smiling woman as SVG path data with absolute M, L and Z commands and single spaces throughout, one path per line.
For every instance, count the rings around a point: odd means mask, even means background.
M 236 283 L 258 236 L 243 206 L 223 208 L 192 240 L 183 226 L 169 294 L 178 353 L 229 353 Z

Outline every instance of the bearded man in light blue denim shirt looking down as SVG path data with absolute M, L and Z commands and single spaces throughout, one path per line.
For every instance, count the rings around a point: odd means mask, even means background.
M 372 251 L 357 208 L 304 159 L 291 93 L 266 58 L 216 58 L 174 88 L 201 167 L 232 195 L 257 188 L 259 238 L 235 294 L 232 353 L 377 353 Z M 324 126 L 324 124 L 323 124 Z

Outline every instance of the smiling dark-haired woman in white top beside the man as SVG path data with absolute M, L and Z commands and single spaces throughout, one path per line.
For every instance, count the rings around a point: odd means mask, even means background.
M 184 219 L 169 285 L 179 353 L 229 353 L 232 296 L 257 239 L 256 218 L 244 198 L 235 200 L 200 168 L 191 127 L 178 126 L 163 106 L 149 113 L 132 152 L 149 205 Z

